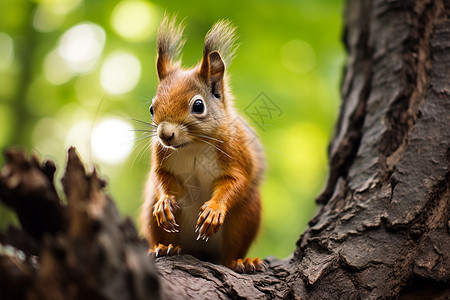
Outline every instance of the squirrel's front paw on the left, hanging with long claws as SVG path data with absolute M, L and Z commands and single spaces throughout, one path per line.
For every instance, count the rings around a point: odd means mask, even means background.
M 161 197 L 153 207 L 153 215 L 158 226 L 167 232 L 178 232 L 179 225 L 175 221 L 174 213 L 179 208 L 174 196 Z

